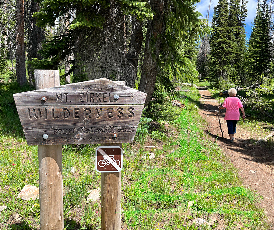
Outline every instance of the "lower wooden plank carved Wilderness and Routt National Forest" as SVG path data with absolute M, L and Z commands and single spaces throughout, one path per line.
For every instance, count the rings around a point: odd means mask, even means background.
M 20 105 L 17 110 L 27 143 L 51 145 L 133 142 L 143 107 Z

